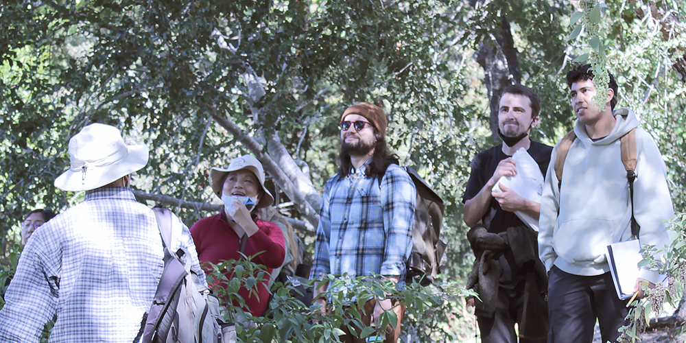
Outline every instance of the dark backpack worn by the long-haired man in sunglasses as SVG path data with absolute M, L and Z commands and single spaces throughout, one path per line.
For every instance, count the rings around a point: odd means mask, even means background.
M 447 246 L 440 238 L 443 223 L 443 200 L 431 189 L 431 186 L 417 174 L 412 167 L 403 167 L 410 174 L 417 189 L 417 201 L 412 225 L 412 254 L 407 259 L 407 276 L 405 282 L 418 282 L 423 286 L 430 285 L 440 273 L 440 260 Z M 379 176 L 379 185 L 381 185 Z

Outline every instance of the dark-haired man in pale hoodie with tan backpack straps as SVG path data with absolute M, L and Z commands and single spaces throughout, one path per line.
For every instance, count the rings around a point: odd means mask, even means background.
M 617 329 L 626 324 L 626 300 L 615 292 L 604 252 L 608 244 L 632 238 L 632 205 L 619 138 L 633 128 L 638 158 L 633 215 L 640 226 L 641 246 L 668 246 L 665 220 L 674 215 L 657 145 L 638 128 L 632 110 L 614 110 L 613 75 L 608 73 L 608 88 L 598 89 L 589 68 L 587 64 L 567 73 L 577 139 L 567 153 L 561 183 L 554 172 L 560 143 L 554 148 L 541 199 L 539 255 L 548 270 L 549 342 L 554 343 L 590 343 L 596 319 L 602 342 L 615 342 Z M 606 99 L 601 106 L 595 102 L 599 92 Z M 647 276 L 650 271 L 641 273 Z M 643 279 L 637 279 L 640 290 L 639 281 Z

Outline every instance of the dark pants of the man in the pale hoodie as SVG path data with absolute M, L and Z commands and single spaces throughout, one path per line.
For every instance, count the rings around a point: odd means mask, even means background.
M 619 300 L 610 273 L 579 276 L 553 266 L 548 275 L 550 343 L 591 343 L 595 320 L 602 342 L 615 342 L 627 324 L 628 300 Z

